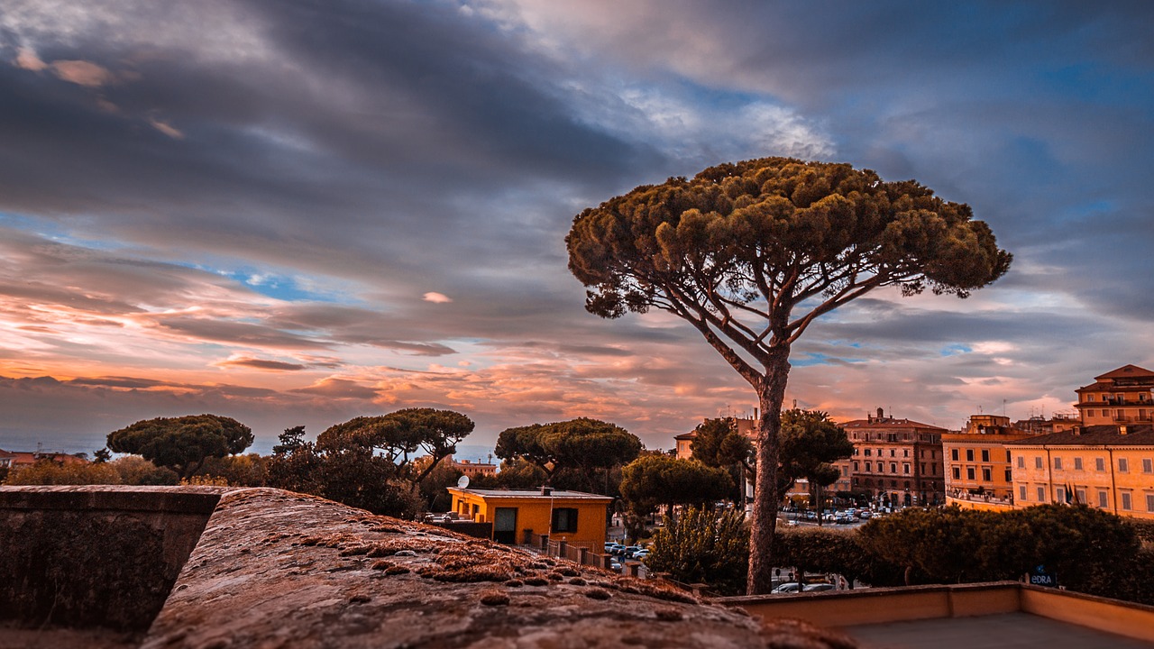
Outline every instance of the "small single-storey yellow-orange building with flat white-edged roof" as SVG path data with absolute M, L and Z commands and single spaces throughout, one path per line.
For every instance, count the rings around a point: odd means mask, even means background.
M 598 552 L 606 538 L 606 509 L 613 499 L 595 493 L 540 490 L 449 487 L 452 509 L 462 519 L 493 523 L 493 540 L 526 543 L 548 535 L 571 546 Z

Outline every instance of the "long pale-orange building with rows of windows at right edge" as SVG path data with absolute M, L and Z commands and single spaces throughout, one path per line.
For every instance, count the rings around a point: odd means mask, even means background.
M 1080 426 L 1010 442 L 1014 507 L 1077 502 L 1154 519 L 1154 427 Z

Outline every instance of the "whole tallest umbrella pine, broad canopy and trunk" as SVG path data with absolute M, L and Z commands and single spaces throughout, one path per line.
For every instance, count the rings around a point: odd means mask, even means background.
M 578 214 L 569 269 L 602 318 L 660 308 L 691 323 L 760 408 L 749 592 L 772 588 L 778 432 L 790 345 L 875 289 L 966 297 L 1012 256 L 969 206 L 848 164 L 762 158 L 637 187 Z

